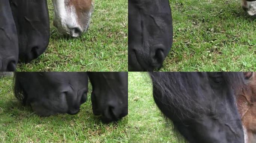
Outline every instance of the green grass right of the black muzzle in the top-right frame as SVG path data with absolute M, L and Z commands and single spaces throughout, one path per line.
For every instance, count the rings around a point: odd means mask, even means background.
M 256 18 L 241 0 L 170 0 L 174 43 L 161 71 L 255 71 Z

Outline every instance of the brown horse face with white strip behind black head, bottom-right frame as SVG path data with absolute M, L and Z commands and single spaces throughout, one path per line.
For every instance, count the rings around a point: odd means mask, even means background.
M 245 143 L 256 142 L 256 76 L 246 72 L 246 84 L 238 93 L 236 101 L 243 127 Z

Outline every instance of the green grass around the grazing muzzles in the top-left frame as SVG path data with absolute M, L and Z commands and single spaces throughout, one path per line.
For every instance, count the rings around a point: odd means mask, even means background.
M 127 71 L 128 1 L 95 0 L 88 32 L 79 38 L 58 34 L 53 5 L 48 1 L 50 43 L 31 63 L 19 63 L 17 71 Z

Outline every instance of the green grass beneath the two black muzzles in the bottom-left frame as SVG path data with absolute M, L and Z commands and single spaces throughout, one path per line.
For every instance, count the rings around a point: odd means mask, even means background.
M 101 123 L 92 113 L 89 89 L 78 114 L 39 117 L 13 97 L 12 78 L 0 79 L 0 143 L 127 143 L 128 117 L 118 123 Z

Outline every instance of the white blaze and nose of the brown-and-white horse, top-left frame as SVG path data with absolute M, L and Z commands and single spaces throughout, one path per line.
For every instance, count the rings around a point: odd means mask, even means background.
M 77 13 L 74 6 L 66 6 L 65 0 L 52 0 L 54 5 L 54 26 L 60 34 L 68 34 L 73 37 L 80 35 L 82 28 L 77 20 Z

